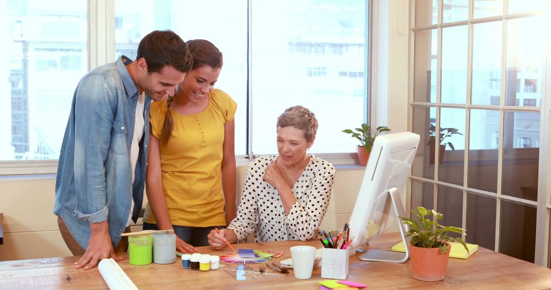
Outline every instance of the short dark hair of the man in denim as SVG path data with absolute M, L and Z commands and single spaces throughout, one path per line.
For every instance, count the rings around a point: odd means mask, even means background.
M 188 72 L 193 66 L 187 44 L 171 30 L 155 30 L 139 42 L 136 60 L 144 58 L 148 73 L 160 72 L 166 65 L 181 72 Z

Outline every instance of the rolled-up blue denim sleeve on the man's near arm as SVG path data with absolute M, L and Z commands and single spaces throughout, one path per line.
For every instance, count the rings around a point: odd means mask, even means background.
M 75 92 L 73 216 L 89 222 L 107 220 L 105 160 L 114 123 L 114 93 L 101 74 L 86 76 Z

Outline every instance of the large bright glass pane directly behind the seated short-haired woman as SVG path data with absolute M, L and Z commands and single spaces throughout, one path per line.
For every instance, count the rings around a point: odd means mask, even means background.
M 366 120 L 365 1 L 252 5 L 253 152 L 277 153 L 277 117 L 293 105 L 304 105 L 319 122 L 309 152 L 356 152 L 358 140 L 341 131 Z

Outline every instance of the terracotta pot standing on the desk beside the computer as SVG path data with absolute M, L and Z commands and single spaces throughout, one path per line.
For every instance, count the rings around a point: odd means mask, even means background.
M 451 249 L 450 243 L 446 244 L 448 250 L 444 254 L 440 253 L 440 248 L 419 248 L 408 244 L 413 278 L 421 281 L 444 280 Z

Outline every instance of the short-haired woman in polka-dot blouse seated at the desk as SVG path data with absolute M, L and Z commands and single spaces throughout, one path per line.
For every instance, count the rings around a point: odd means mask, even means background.
M 220 233 L 211 231 L 215 249 L 225 242 L 306 241 L 321 236 L 318 227 L 331 198 L 336 174 L 331 163 L 307 155 L 314 144 L 317 120 L 310 110 L 288 108 L 277 120 L 279 155 L 252 161 L 247 172 L 237 216 Z

